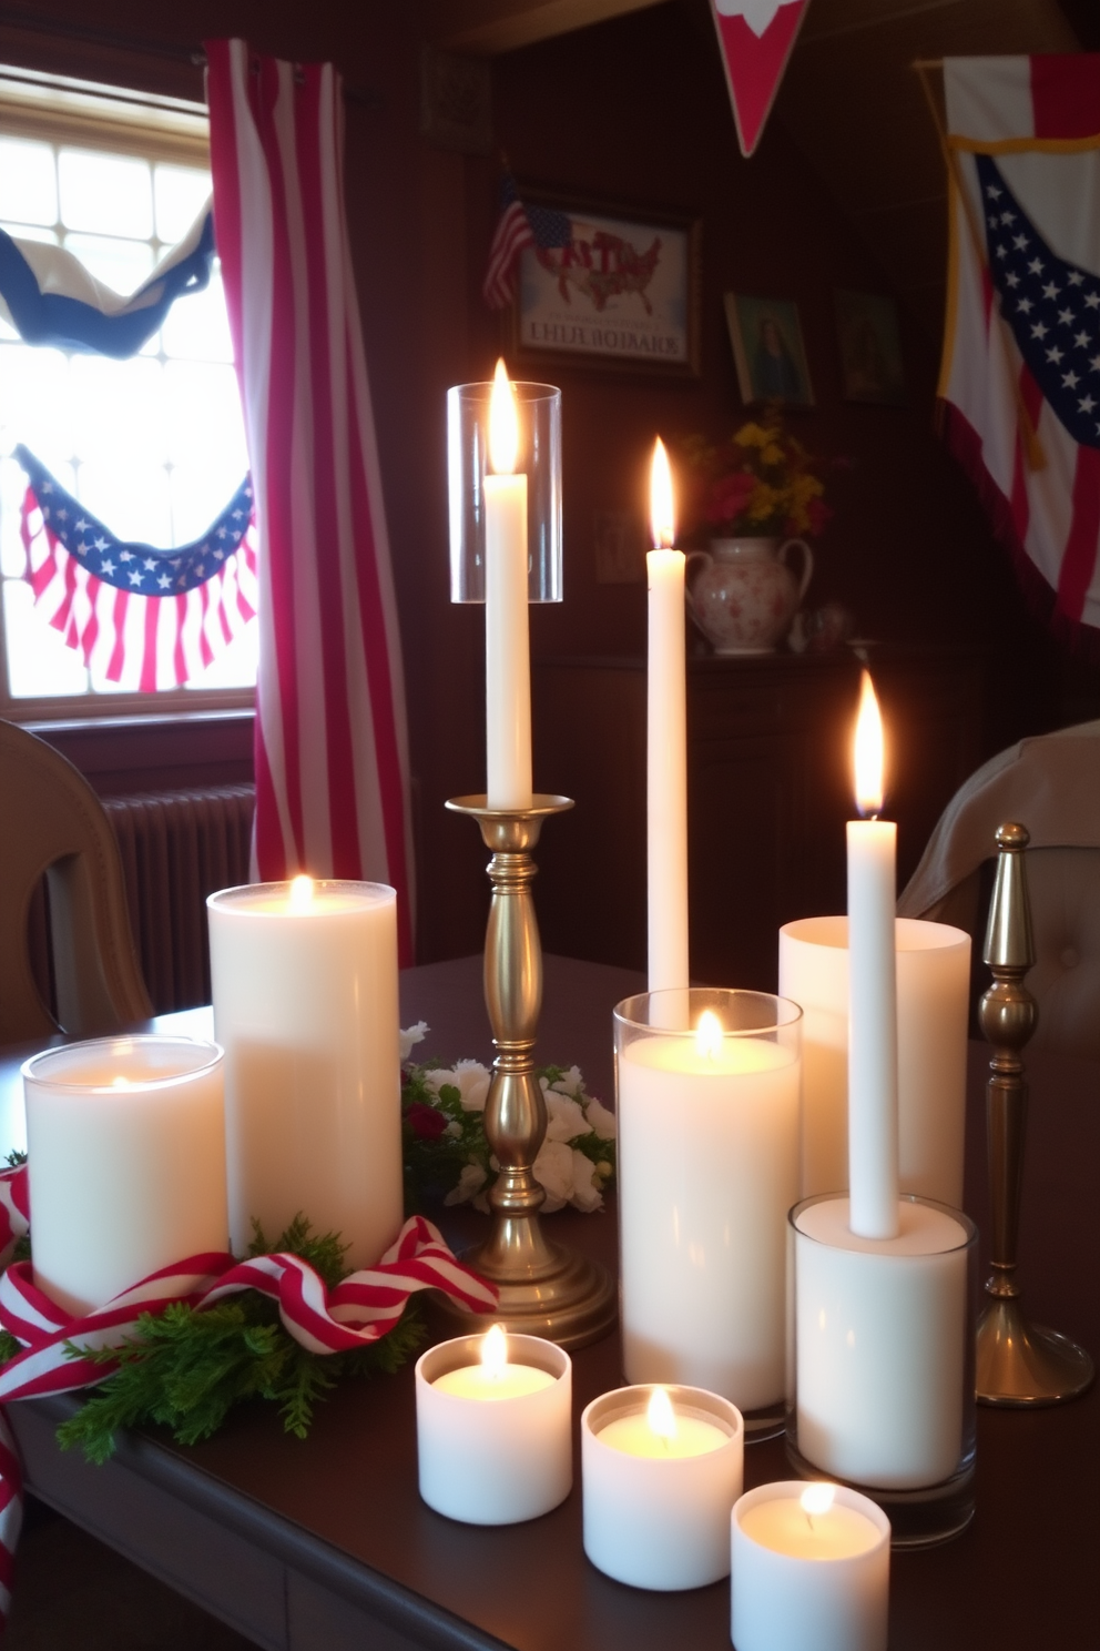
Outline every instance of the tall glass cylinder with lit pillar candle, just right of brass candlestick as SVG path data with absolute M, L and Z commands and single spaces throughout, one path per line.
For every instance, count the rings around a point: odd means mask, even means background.
M 800 1024 L 767 992 L 642 992 L 615 1009 L 623 1370 L 783 1428 L 787 1213 Z

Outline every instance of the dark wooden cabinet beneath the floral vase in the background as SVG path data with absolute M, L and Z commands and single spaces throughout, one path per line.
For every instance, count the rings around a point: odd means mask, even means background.
M 983 662 L 973 650 L 872 654 L 899 822 L 899 888 L 943 806 L 981 761 Z M 844 910 L 844 821 L 861 662 L 688 664 L 691 969 L 773 991 L 777 930 Z M 534 667 L 534 778 L 576 799 L 538 849 L 548 951 L 645 967 L 645 664 Z

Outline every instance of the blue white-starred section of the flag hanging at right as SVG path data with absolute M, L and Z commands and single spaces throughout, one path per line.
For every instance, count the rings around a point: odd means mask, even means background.
M 1001 315 L 1074 441 L 1100 447 L 1100 279 L 1051 251 L 991 155 L 975 163 Z

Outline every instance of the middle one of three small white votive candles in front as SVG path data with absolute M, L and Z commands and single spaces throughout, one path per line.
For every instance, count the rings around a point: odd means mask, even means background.
M 581 1417 L 584 1552 L 633 1588 L 704 1588 L 729 1575 L 744 1423 L 727 1400 L 693 1387 L 670 1388 L 671 1410 L 650 1418 L 653 1395 L 618 1388 Z

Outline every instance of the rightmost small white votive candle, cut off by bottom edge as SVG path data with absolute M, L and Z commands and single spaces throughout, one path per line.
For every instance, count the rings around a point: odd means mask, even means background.
M 886 1651 L 891 1522 L 859 1491 L 760 1484 L 734 1507 L 736 1651 Z

